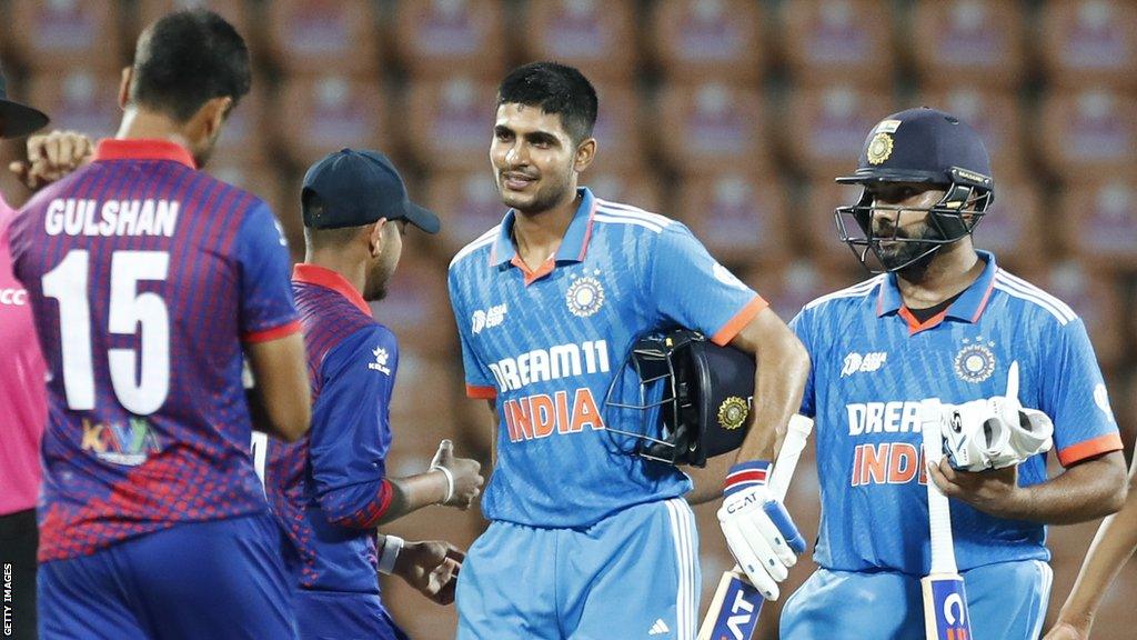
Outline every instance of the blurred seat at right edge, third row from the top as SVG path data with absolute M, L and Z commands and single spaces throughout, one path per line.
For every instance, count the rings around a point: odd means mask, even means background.
M 1071 184 L 1054 218 L 1055 237 L 1079 263 L 1137 269 L 1137 179 Z

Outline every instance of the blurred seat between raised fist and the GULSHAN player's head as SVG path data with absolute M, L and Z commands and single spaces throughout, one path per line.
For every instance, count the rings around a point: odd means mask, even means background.
M 51 129 L 73 129 L 92 139 L 113 137 L 118 130 L 117 69 L 76 67 L 33 76 L 23 92 L 28 104 L 51 116 Z

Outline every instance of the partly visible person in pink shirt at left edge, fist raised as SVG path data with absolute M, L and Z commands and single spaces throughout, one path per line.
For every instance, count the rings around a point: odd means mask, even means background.
M 48 116 L 9 100 L 0 75 L 0 138 L 20 138 L 42 128 Z M 10 169 L 30 188 L 73 171 L 90 153 L 90 140 L 74 132 L 52 132 L 27 140 L 28 161 Z M 48 419 L 45 366 L 35 338 L 27 292 L 11 272 L 7 227 L 16 214 L 0 196 L 0 564 L 6 567 L 5 630 L 34 640 L 35 499 L 40 491 L 40 438 Z

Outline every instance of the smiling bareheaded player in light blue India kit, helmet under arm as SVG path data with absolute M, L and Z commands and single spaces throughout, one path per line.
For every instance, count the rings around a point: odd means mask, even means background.
M 765 461 L 798 408 L 804 350 L 683 224 L 579 187 L 598 153 L 596 91 L 579 71 L 518 67 L 497 102 L 490 161 L 511 208 L 449 270 L 467 394 L 497 419 L 490 525 L 463 565 L 458 637 L 694 638 L 691 481 L 606 433 L 634 432 L 640 416 L 603 412 L 605 392 L 653 330 L 687 327 L 756 353 L 756 417 L 728 492 L 731 518 L 754 532 L 741 542 L 765 545 L 758 532 L 779 535 L 761 508 Z M 638 393 L 638 379 L 626 384 L 625 397 Z

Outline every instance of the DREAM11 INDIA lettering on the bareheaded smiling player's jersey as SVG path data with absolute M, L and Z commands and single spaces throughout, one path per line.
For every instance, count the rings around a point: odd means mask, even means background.
M 489 368 L 497 379 L 499 393 L 562 378 L 607 374 L 611 370 L 608 344 L 588 340 L 537 348 L 516 358 L 504 358 Z M 584 427 L 604 428 L 599 405 L 587 386 L 506 400 L 501 416 L 511 442 L 548 437 L 554 433 L 573 434 Z

